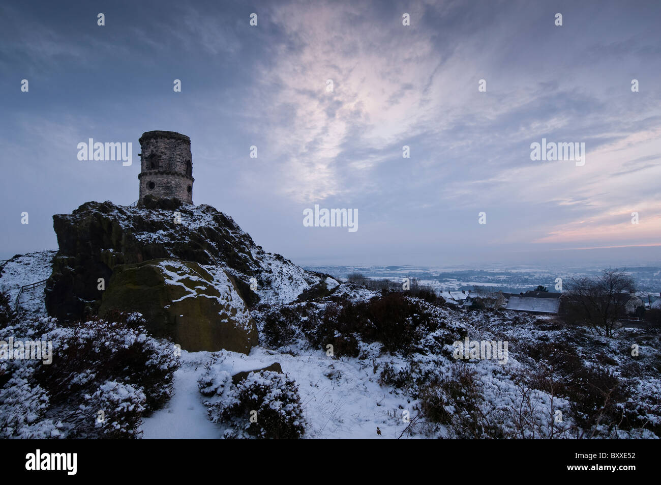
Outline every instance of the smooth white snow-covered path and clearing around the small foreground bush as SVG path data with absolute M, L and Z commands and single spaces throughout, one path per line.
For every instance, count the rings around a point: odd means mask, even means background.
M 293 357 L 263 347 L 254 347 L 250 355 L 223 351 L 224 364 L 231 374 L 280 363 L 282 371 L 293 378 L 303 404 L 308 426 L 305 438 L 397 438 L 406 427 L 399 406 L 407 404 L 403 396 L 390 394 L 379 386 L 378 373 L 369 366 L 357 365 L 357 359 L 340 360 L 317 351 Z M 198 392 L 197 380 L 209 352 L 182 351 L 182 366 L 175 373 L 175 395 L 165 408 L 143 421 L 144 439 L 219 438 L 223 427 L 207 418 Z M 410 411 L 412 413 L 412 411 Z

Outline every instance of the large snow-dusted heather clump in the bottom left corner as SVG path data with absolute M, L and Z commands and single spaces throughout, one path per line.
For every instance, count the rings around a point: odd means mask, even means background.
M 3 363 L 0 437 L 138 437 L 141 416 L 171 396 L 178 357 L 173 345 L 147 335 L 138 314 L 117 320 L 57 327 L 46 318 L 32 330 L 22 325 L 0 332 L 5 341 L 51 341 L 53 351 L 50 365 Z

